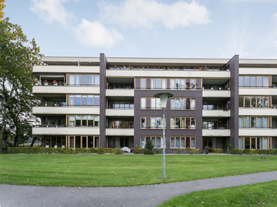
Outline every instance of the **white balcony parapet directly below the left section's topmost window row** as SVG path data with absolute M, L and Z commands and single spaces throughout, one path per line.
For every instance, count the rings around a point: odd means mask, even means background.
M 33 86 L 33 94 L 78 94 L 78 93 L 100 94 L 100 87 L 99 86 Z

